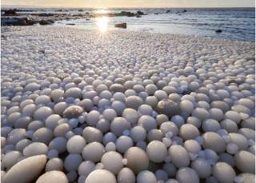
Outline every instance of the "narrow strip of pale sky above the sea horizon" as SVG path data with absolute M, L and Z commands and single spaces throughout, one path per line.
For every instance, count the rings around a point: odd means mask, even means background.
M 44 7 L 254 7 L 254 0 L 2 0 L 2 6 Z

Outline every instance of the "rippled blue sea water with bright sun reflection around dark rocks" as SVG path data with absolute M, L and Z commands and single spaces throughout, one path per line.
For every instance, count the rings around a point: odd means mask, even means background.
M 78 14 L 85 12 L 93 13 L 93 9 L 30 9 L 37 12 Z M 225 38 L 234 41 L 255 42 L 255 11 L 254 8 L 158 8 L 158 9 L 107 9 L 108 12 L 120 12 L 122 10 L 137 12 L 141 10 L 147 15 L 136 17 L 112 17 L 112 18 L 90 18 L 78 20 L 66 20 L 55 22 L 54 25 L 75 24 L 84 29 L 115 29 L 114 24 L 126 22 L 127 29 L 134 31 L 149 31 L 170 34 L 192 34 L 197 36 L 208 36 L 213 38 Z M 170 10 L 166 13 L 166 10 Z M 185 13 L 182 13 L 186 10 Z M 21 12 L 28 13 L 28 12 Z M 215 30 L 222 30 L 221 34 Z

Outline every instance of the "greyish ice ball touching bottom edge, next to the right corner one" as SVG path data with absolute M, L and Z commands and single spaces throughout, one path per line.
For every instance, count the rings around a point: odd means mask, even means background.
M 225 162 L 218 162 L 213 166 L 213 175 L 219 182 L 234 182 L 234 169 Z

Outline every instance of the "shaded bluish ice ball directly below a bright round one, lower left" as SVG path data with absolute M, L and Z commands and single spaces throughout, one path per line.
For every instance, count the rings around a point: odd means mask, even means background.
M 70 153 L 64 160 L 64 168 L 66 171 L 76 171 L 78 166 L 82 163 L 82 157 L 78 153 Z

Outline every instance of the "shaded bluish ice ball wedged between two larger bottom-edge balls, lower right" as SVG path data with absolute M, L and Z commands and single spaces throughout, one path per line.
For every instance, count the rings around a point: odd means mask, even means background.
M 194 169 L 200 178 L 209 177 L 211 174 L 211 165 L 206 159 L 198 157 L 191 163 L 191 168 Z

